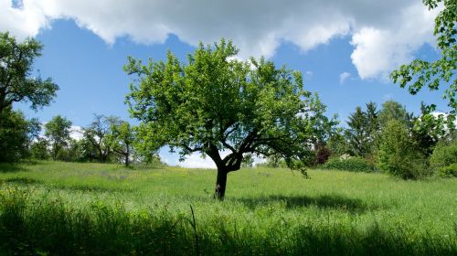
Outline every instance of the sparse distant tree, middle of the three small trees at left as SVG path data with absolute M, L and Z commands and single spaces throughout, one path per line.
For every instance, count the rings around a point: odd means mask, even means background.
M 112 154 L 112 144 L 108 137 L 112 133 L 113 123 L 119 123 L 119 118 L 94 114 L 92 123 L 84 128 L 84 137 L 92 144 L 101 163 L 107 162 Z

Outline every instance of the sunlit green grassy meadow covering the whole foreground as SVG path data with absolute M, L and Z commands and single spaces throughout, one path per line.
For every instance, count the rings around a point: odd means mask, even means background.
M 5 255 L 457 255 L 457 179 L 0 165 Z M 191 207 L 194 211 L 192 214 Z

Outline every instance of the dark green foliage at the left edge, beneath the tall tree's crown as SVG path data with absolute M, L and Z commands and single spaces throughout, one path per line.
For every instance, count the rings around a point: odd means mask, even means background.
M 0 113 L 0 162 L 16 162 L 27 156 L 29 123 L 22 112 Z

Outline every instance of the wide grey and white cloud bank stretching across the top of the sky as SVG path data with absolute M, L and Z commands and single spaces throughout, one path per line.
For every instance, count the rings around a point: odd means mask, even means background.
M 21 8 L 0 0 L 0 30 L 36 36 L 53 20 L 73 19 L 108 44 L 130 37 L 143 44 L 164 43 L 169 34 L 196 46 L 231 38 L 239 57 L 273 56 L 283 42 L 303 52 L 348 36 L 361 79 L 385 78 L 433 44 L 433 18 L 418 0 L 182 1 L 182 0 L 23 0 Z

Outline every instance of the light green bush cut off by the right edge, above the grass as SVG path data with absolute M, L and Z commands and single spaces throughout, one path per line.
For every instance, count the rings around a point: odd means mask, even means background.
M 451 144 L 437 144 L 430 156 L 430 165 L 434 171 L 457 163 L 457 140 Z

